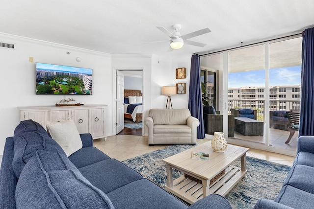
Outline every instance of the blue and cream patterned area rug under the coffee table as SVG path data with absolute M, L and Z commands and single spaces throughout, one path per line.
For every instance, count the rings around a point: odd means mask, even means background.
M 162 159 L 175 155 L 193 145 L 171 145 L 126 161 L 132 169 L 164 188 L 166 183 L 166 164 Z M 233 165 L 240 167 L 240 160 Z M 274 200 L 284 183 L 291 167 L 269 161 L 246 157 L 246 176 L 225 196 L 233 209 L 252 209 L 259 198 Z M 173 172 L 176 179 L 179 171 Z

